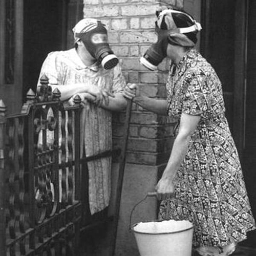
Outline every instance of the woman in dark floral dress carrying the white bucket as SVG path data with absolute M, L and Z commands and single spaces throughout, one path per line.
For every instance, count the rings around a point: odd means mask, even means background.
M 178 120 L 172 153 L 156 186 L 162 200 L 160 220 L 192 222 L 197 255 L 230 255 L 246 233 L 255 229 L 255 223 L 225 117 L 222 84 L 194 48 L 195 37 L 177 32 L 177 27 L 193 26 L 187 17 L 182 26 L 180 20 L 187 14 L 181 12 L 173 24 L 172 11 L 160 13 L 157 22 L 160 29 L 169 30 L 166 55 L 172 61 L 167 101 L 142 96 L 136 84 L 127 85 L 125 96 Z

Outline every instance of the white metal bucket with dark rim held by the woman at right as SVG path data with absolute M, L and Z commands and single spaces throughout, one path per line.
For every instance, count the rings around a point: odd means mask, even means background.
M 130 227 L 141 256 L 191 256 L 193 224 L 189 221 L 147 221 Z

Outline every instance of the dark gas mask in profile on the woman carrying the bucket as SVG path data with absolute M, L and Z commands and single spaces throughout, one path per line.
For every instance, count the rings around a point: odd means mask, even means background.
M 157 42 L 152 44 L 140 58 L 140 63 L 145 66 L 147 69 L 155 71 L 157 66 L 162 62 L 162 60 L 167 56 L 167 45 L 168 45 L 168 35 L 169 30 L 160 29 L 157 26 L 155 27 L 155 32 L 158 36 Z

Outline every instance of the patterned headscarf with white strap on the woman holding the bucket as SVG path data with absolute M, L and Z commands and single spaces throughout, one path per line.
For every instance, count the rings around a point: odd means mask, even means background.
M 196 34 L 202 29 L 201 24 L 189 14 L 172 9 L 156 12 L 157 26 L 169 30 L 168 41 L 170 44 L 183 47 L 193 47 L 197 42 Z

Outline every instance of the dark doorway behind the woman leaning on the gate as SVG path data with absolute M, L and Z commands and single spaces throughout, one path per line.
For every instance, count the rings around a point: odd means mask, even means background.
M 23 101 L 34 92 L 42 62 L 52 51 L 67 44 L 66 0 L 24 0 Z

